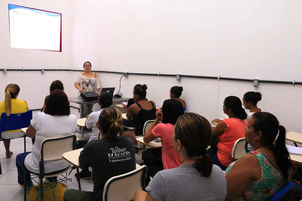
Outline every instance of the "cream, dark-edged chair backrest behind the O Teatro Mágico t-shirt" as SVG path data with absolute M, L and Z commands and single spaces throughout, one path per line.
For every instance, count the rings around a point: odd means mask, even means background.
M 147 166 L 111 177 L 104 186 L 103 201 L 129 201 L 133 199 L 134 193 L 145 189 L 145 176 Z

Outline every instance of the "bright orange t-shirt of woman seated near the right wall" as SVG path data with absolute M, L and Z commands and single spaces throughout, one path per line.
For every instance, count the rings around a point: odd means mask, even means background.
M 244 138 L 247 121 L 235 118 L 224 119 L 223 121 L 226 123 L 227 129 L 218 136 L 217 157 L 220 163 L 227 167 L 232 162 L 234 143 L 237 139 Z

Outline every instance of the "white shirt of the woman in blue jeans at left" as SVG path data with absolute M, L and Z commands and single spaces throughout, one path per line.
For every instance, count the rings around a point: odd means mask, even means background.
M 25 167 L 34 173 L 39 173 L 41 161 L 41 143 L 44 139 L 69 136 L 76 132 L 76 115 L 49 115 L 44 112 L 37 113 L 31 120 L 31 125 L 36 130 L 36 141 L 32 152 L 25 158 Z M 66 160 L 58 159 L 44 162 L 45 173 L 50 173 L 67 168 L 70 165 Z

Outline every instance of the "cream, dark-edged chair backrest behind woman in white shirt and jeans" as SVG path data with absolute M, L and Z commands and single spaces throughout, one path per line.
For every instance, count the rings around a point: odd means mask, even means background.
M 50 161 L 61 159 L 66 152 L 76 149 L 76 135 L 48 138 L 42 141 L 41 159 Z

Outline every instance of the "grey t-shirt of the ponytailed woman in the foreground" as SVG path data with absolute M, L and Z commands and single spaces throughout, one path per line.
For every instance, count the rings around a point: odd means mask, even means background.
M 221 201 L 226 198 L 226 179 L 217 165 L 213 165 L 210 177 L 200 175 L 192 164 L 159 171 L 146 187 L 146 191 L 156 201 Z

